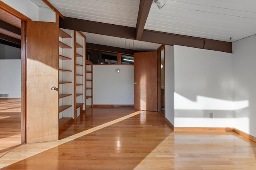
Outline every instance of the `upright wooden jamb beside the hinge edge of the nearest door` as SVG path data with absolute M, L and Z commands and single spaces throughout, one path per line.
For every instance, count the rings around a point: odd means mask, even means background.
M 26 142 L 26 22 L 21 21 L 21 143 Z

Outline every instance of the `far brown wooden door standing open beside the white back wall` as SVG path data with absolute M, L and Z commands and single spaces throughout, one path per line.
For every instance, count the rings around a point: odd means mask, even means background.
M 134 53 L 134 109 L 157 111 L 156 51 Z

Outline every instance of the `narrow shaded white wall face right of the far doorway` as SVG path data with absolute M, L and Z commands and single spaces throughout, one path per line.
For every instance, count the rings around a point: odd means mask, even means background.
M 165 45 L 165 117 L 174 125 L 174 47 Z

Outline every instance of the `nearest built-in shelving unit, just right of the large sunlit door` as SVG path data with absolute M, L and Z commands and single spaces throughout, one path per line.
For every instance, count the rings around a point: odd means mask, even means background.
M 59 29 L 59 128 L 74 118 L 74 31 Z

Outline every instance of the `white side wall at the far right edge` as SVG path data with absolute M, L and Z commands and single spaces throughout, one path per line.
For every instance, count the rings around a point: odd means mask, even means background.
M 232 43 L 234 101 L 247 100 L 248 107 L 234 110 L 235 128 L 256 137 L 256 35 Z

